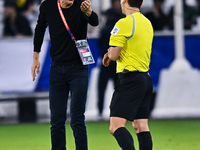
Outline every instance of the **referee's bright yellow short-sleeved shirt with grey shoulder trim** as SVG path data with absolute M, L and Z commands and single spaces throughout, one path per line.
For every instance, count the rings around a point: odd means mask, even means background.
M 117 73 L 124 69 L 147 72 L 151 59 L 153 27 L 140 12 L 120 19 L 111 31 L 110 46 L 122 47 Z

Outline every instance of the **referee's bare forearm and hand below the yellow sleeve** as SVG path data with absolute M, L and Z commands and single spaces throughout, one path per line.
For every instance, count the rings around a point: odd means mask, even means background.
M 108 67 L 111 61 L 116 61 L 119 58 L 122 47 L 110 47 L 108 52 L 103 57 L 103 65 Z

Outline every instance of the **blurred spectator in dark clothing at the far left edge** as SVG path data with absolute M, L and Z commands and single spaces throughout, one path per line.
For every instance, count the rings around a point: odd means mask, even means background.
M 32 30 L 28 20 L 16 11 L 16 4 L 6 0 L 4 3 L 3 36 L 30 36 Z

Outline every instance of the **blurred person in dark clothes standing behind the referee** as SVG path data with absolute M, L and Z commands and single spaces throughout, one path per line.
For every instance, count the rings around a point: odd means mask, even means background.
M 100 37 L 98 41 L 98 45 L 100 48 L 99 55 L 101 57 L 101 60 L 109 48 L 110 32 L 113 29 L 115 23 L 123 16 L 123 14 L 121 13 L 120 0 L 112 0 L 111 4 L 111 8 L 102 13 L 106 17 L 106 24 L 100 31 Z M 101 116 L 103 112 L 104 93 L 109 79 L 112 79 L 114 83 L 117 81 L 115 62 L 111 62 L 109 67 L 104 67 L 103 64 L 101 64 L 100 66 L 98 79 L 99 116 Z

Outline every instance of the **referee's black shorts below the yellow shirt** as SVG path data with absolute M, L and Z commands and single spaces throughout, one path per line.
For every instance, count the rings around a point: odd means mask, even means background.
M 110 104 L 110 116 L 134 119 L 147 119 L 153 92 L 151 76 L 147 72 L 118 74 Z

